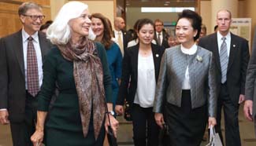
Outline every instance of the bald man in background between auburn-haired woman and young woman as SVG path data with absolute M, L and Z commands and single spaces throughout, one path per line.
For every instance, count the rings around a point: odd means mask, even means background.
M 117 45 L 121 49 L 121 53 L 124 57 L 124 49 L 127 48 L 128 44 L 128 36 L 126 32 L 124 31 L 125 23 L 124 19 L 122 17 L 115 17 L 114 19 L 114 30 L 113 30 L 113 37 L 117 41 Z

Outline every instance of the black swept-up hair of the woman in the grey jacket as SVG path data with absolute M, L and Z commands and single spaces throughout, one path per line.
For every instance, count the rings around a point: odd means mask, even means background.
M 184 9 L 182 11 L 182 13 L 178 14 L 178 16 L 179 16 L 179 18 L 178 18 L 177 22 L 181 18 L 187 18 L 188 20 L 191 20 L 191 25 L 192 25 L 193 29 L 198 31 L 198 33 L 194 37 L 194 41 L 197 40 L 199 38 L 200 32 L 201 32 L 202 17 L 200 15 L 198 15 L 198 13 L 196 13 L 195 11 L 192 11 L 190 9 Z

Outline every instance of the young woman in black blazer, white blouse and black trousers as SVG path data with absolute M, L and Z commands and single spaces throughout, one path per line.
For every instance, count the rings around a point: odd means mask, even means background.
M 135 146 L 158 146 L 159 127 L 152 109 L 164 49 L 151 42 L 154 38 L 152 20 L 139 20 L 137 28 L 139 43 L 124 53 L 116 111 L 119 115 L 123 114 L 124 100 L 127 100 L 132 109 Z

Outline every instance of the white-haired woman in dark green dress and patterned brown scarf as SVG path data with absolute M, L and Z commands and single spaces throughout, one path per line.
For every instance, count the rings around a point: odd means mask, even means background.
M 109 125 L 106 101 L 113 110 L 111 76 L 104 46 L 88 39 L 90 17 L 86 4 L 68 2 L 46 31 L 56 46 L 43 64 L 34 145 L 43 139 L 47 146 L 103 144 Z M 47 115 L 56 84 L 59 94 Z M 110 114 L 109 119 L 116 133 L 118 122 Z

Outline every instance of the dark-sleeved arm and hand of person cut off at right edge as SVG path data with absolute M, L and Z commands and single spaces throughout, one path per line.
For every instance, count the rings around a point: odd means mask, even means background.
M 250 121 L 254 120 L 254 129 L 256 135 L 256 27 L 254 31 L 254 42 L 250 56 L 250 62 L 247 68 L 247 82 L 245 85 L 245 102 L 243 113 Z

